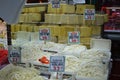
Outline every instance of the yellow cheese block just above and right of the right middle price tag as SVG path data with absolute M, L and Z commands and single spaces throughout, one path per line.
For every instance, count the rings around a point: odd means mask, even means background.
M 80 37 L 92 36 L 92 28 L 87 26 L 80 27 Z

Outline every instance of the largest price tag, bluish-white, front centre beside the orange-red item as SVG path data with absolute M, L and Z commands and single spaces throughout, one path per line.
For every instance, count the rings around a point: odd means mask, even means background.
M 50 56 L 49 71 L 64 72 L 65 70 L 65 57 L 64 56 Z

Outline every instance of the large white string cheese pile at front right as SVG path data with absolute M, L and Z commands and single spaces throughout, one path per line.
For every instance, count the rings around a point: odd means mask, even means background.
M 110 55 L 111 54 L 108 52 L 95 49 L 82 52 L 79 56 L 80 67 L 77 76 L 91 77 L 96 80 L 107 80 L 108 60 L 110 59 Z

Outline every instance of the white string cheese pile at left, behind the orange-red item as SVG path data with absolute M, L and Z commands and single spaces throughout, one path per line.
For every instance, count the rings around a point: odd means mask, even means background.
M 65 47 L 64 44 L 57 44 L 53 42 L 30 41 L 21 46 L 21 60 L 36 61 L 42 56 L 50 57 L 52 53 L 44 52 L 44 50 L 61 51 Z

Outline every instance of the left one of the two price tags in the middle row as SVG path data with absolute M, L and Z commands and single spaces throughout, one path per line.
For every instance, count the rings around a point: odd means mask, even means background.
M 50 29 L 41 29 L 39 31 L 40 40 L 50 40 Z

